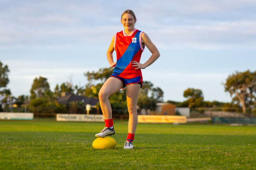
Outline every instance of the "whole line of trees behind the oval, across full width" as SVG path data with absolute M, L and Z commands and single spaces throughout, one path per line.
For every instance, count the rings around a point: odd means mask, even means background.
M 76 94 L 87 97 L 98 98 L 98 93 L 103 83 L 110 77 L 113 68 L 100 68 L 98 71 L 88 71 L 84 73 L 88 83 L 84 86 L 73 85 L 72 81 L 56 85 L 54 90 L 50 90 L 50 85 L 46 77 L 36 77 L 30 89 L 30 96 L 21 95 L 15 98 L 15 104 L 20 107 L 24 101 L 29 101 L 30 110 L 33 112 L 67 112 L 66 107 L 58 104 L 57 99 L 62 93 Z M 0 95 L 4 96 L 1 104 L 8 104 L 10 89 L 6 88 L 9 83 L 9 68 L 0 61 Z M 204 101 L 203 93 L 200 89 L 188 88 L 183 92 L 187 99 L 183 102 L 167 101 L 176 107 L 242 107 L 243 113 L 246 108 L 256 107 L 256 71 L 238 72 L 229 75 L 223 83 L 225 92 L 229 93 L 232 101 Z M 157 102 L 164 102 L 164 92 L 160 87 L 155 87 L 150 81 L 143 81 L 143 86 L 139 93 L 138 107 L 140 109 L 155 110 Z M 110 96 L 110 103 L 113 110 L 127 108 L 125 89 Z M 13 103 L 14 104 L 14 103 Z M 82 103 L 69 103 L 69 107 L 74 105 L 82 106 Z M 99 103 L 97 104 L 99 108 Z M 34 109 L 33 109 L 34 108 Z M 39 108 L 39 109 L 38 109 Z M 40 109 L 41 108 L 41 109 Z M 0 107 L 0 111 L 2 108 Z

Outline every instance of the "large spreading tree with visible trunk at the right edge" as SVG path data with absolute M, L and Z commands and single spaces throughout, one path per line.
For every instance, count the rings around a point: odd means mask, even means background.
M 232 102 L 241 104 L 243 113 L 246 113 L 246 107 L 256 106 L 256 71 L 236 71 L 229 75 L 224 87 L 225 92 L 229 92 L 232 97 Z

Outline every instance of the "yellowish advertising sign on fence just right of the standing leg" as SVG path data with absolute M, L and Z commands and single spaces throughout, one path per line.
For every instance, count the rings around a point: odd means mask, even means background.
M 138 115 L 138 123 L 186 123 L 186 116 Z

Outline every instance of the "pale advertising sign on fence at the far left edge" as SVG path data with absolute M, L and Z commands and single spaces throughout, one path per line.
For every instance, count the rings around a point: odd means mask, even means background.
M 0 119 L 3 120 L 33 120 L 33 113 L 1 112 Z

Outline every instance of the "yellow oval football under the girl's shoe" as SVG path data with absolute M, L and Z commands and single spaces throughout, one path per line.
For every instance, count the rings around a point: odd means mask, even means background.
M 95 149 L 110 149 L 114 148 L 117 145 L 117 142 L 112 137 L 98 137 L 92 143 L 92 147 Z

